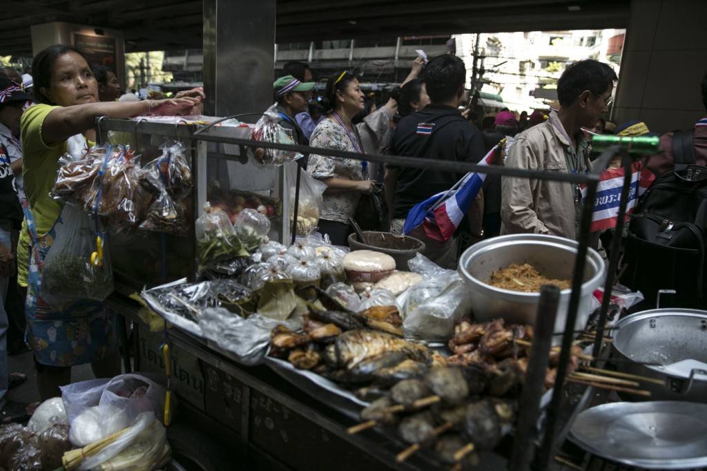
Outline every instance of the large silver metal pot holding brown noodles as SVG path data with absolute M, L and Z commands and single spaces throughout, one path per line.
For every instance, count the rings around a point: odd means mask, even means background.
M 474 318 L 479 322 L 503 318 L 508 322 L 534 325 L 540 293 L 500 289 L 485 281 L 491 277 L 491 272 L 523 263 L 531 264 L 549 278 L 572 279 L 578 245 L 575 240 L 541 234 L 511 234 L 472 245 L 460 258 L 459 273 L 469 287 Z M 592 310 L 592 293 L 603 280 L 604 260 L 590 248 L 575 329 L 582 329 L 587 323 Z M 560 292 L 555 332 L 565 328 L 571 291 Z M 561 337 L 556 336 L 554 341 L 560 342 Z

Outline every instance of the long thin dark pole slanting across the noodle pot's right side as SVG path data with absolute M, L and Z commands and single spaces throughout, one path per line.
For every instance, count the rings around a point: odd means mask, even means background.
M 600 159 L 601 160 L 601 159 Z M 587 197 L 585 198 L 582 207 L 582 221 L 580 225 L 579 247 L 577 248 L 577 260 L 575 261 L 575 269 L 572 277 L 572 293 L 570 294 L 570 303 L 567 310 L 567 319 L 565 322 L 565 330 L 562 335 L 562 349 L 557 365 L 557 376 L 552 390 L 552 399 L 547 409 L 547 418 L 544 424 L 544 437 L 542 441 L 542 453 L 540 456 L 539 469 L 547 470 L 551 457 L 554 455 L 555 443 L 555 428 L 557 425 L 557 417 L 562 403 L 563 386 L 565 377 L 567 376 L 567 365 L 570 359 L 570 349 L 572 347 L 572 337 L 574 333 L 575 320 L 577 319 L 577 310 L 579 308 L 579 299 L 582 295 L 582 284 L 584 281 L 584 267 L 587 263 L 587 249 L 589 243 L 589 228 L 592 223 L 592 209 L 594 208 L 594 200 L 597 197 L 597 181 L 592 181 L 587 187 Z

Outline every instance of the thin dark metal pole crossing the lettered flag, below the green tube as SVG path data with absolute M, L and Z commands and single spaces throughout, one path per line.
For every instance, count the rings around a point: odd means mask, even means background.
M 631 156 L 625 150 L 620 151 L 621 165 L 624 167 L 624 186 L 621 187 L 621 201 L 619 202 L 619 215 L 617 216 L 617 227 L 612 238 L 612 252 L 609 255 L 609 272 L 607 272 L 607 280 L 604 283 L 604 297 L 602 298 L 602 308 L 599 312 L 599 322 L 597 324 L 597 336 L 594 339 L 594 347 L 592 348 L 592 356 L 597 358 L 602 349 L 602 339 L 604 338 L 604 324 L 607 322 L 607 314 L 609 313 L 609 303 L 612 299 L 612 288 L 614 287 L 614 279 L 616 279 L 617 269 L 619 267 L 619 257 L 621 255 L 621 239 L 624 237 L 624 219 L 626 216 L 626 207 L 629 204 L 629 191 L 631 190 Z M 638 191 L 638 189 L 636 189 Z

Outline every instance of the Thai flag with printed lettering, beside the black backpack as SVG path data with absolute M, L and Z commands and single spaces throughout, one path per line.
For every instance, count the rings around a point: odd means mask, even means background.
M 643 168 L 641 162 L 634 162 L 631 166 L 631 188 L 629 189 L 629 202 L 626 204 L 626 221 L 633 213 L 645 190 L 648 190 L 655 175 L 648 168 Z M 597 185 L 597 198 L 592 211 L 591 232 L 604 231 L 617 226 L 619 217 L 619 204 L 621 202 L 621 187 L 624 186 L 624 168 L 609 168 L 604 170 Z M 586 197 L 586 185 L 582 187 L 582 195 Z

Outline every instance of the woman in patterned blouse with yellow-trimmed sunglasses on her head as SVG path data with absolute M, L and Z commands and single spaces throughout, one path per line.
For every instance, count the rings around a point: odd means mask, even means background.
M 415 64 L 418 62 L 422 64 L 421 59 Z M 405 81 L 414 79 L 419 69 L 421 65 L 414 66 Z M 397 101 L 391 98 L 385 106 L 365 117 L 363 122 L 353 124 L 351 120 L 364 109 L 366 101 L 358 78 L 349 71 L 329 77 L 320 105 L 326 119 L 317 124 L 310 146 L 358 153 L 378 150 L 375 147 L 385 141 L 390 130 L 388 123 L 397 109 Z M 362 140 L 362 133 L 372 133 L 375 139 Z M 327 234 L 335 245 L 348 245 L 351 233 L 349 218 L 356 214 L 361 195 L 375 191 L 375 182 L 368 175 L 368 162 L 311 154 L 307 171 L 328 186 L 319 220 L 320 233 Z

